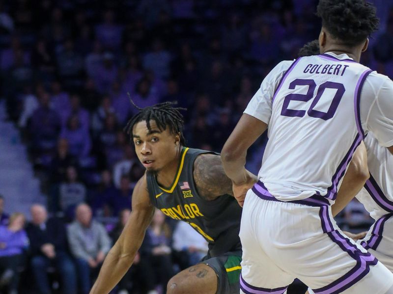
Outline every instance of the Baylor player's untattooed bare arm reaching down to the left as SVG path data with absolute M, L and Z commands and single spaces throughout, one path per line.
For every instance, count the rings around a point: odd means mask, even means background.
M 146 176 L 134 188 L 132 212 L 117 242 L 105 258 L 90 294 L 107 294 L 120 281 L 134 261 L 151 222 L 154 207 L 149 201 Z

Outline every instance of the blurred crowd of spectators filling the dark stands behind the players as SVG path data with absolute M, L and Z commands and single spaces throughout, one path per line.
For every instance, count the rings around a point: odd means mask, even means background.
M 393 2 L 375 2 L 384 7 L 382 29 L 362 63 L 393 77 Z M 79 285 L 88 293 L 144 173 L 123 132 L 138 111 L 130 99 L 138 107 L 177 101 L 187 108 L 187 145 L 220 152 L 266 74 L 318 37 L 316 4 L 0 0 L 1 97 L 47 195 L 47 204 L 32 206 L 31 215 L 7 220 L 1 209 L 0 286 L 13 294 L 18 285 L 22 293 L 71 294 Z M 254 173 L 266 140 L 262 136 L 248 154 Z M 372 223 L 356 201 L 340 219 L 344 229 Z M 206 253 L 206 242 L 194 233 L 157 212 L 116 291 L 165 291 L 173 273 Z M 3 245 L 11 239 L 12 250 Z M 20 274 L 28 287 L 18 282 Z

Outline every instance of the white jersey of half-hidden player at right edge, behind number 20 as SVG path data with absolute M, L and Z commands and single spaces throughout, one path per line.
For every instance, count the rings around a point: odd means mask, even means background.
M 393 213 L 393 155 L 372 133 L 365 137 L 370 179 L 356 196 L 374 219 Z

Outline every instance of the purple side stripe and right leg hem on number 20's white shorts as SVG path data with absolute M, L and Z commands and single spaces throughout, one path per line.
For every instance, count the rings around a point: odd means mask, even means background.
M 325 207 L 321 207 L 320 216 L 321 215 L 322 229 L 325 232 L 329 230 L 329 228 L 332 228 L 333 225 Z M 355 244 L 349 241 L 349 239 L 342 235 L 339 231 L 328 231 L 327 234 L 330 239 L 334 241 L 343 251 L 347 252 L 349 256 L 356 260 L 356 265 L 333 283 L 319 289 L 313 289 L 315 294 L 341 293 L 365 277 L 365 275 L 370 270 L 370 266 L 375 266 L 378 262 L 374 256 L 368 252 L 362 252 Z

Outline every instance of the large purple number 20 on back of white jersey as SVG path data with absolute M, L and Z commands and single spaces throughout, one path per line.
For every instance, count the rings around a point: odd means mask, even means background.
M 282 104 L 282 109 L 281 109 L 281 115 L 283 116 L 298 116 L 298 117 L 303 117 L 306 115 L 306 110 L 295 110 L 295 109 L 289 109 L 289 103 L 294 100 L 294 101 L 304 101 L 307 102 L 311 100 L 314 96 L 314 90 L 316 87 L 315 81 L 314 80 L 303 80 L 303 79 L 296 79 L 292 81 L 289 84 L 289 89 L 295 89 L 296 86 L 309 86 L 309 89 L 307 90 L 306 94 L 289 94 L 284 98 L 284 103 Z M 319 110 L 313 109 L 318 101 L 321 99 L 323 92 L 325 89 L 336 89 L 337 92 L 335 94 L 335 97 L 333 97 L 332 103 L 329 107 L 328 112 L 323 112 Z M 311 117 L 315 118 L 321 118 L 323 120 L 329 120 L 331 119 L 337 110 L 338 104 L 341 101 L 342 96 L 344 95 L 345 88 L 343 84 L 337 83 L 337 82 L 332 82 L 332 81 L 326 81 L 323 84 L 321 84 L 318 87 L 316 96 L 314 100 L 311 103 L 311 106 L 309 107 L 309 110 L 307 110 L 307 114 Z

